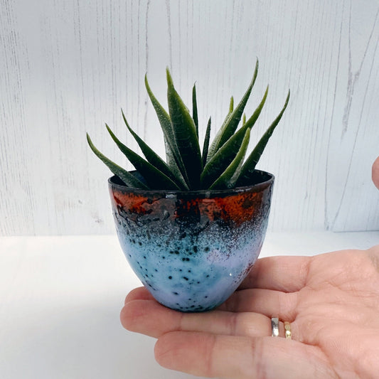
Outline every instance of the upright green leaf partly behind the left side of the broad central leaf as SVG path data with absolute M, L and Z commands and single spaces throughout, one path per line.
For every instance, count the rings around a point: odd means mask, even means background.
M 166 148 L 167 163 L 171 171 L 174 172 L 176 177 L 182 176 L 185 181 L 188 181 L 185 174 L 186 171 L 183 166 L 183 161 L 178 151 L 178 146 L 176 146 L 175 136 L 172 129 L 171 119 L 169 114 L 166 112 L 164 107 L 161 106 L 153 92 L 151 92 L 149 82 L 147 81 L 147 75 L 145 75 L 145 87 L 146 91 L 150 97 L 151 104 L 154 107 L 156 116 L 159 119 L 159 124 L 161 124 L 161 129 L 164 134 L 164 145 Z

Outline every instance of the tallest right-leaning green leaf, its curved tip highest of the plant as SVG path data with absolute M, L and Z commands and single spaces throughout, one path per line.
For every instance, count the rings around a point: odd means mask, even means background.
M 208 159 L 211 159 L 216 151 L 220 149 L 225 142 L 230 139 L 230 137 L 234 134 L 235 130 L 238 127 L 238 124 L 240 123 L 240 119 L 242 117 L 243 110 L 245 109 L 245 105 L 247 103 L 247 100 L 250 97 L 250 93 L 252 91 L 252 87 L 255 84 L 255 80 L 257 79 L 258 74 L 258 60 L 255 64 L 255 71 L 254 75 L 252 77 L 252 81 L 250 82 L 249 87 L 247 87 L 247 90 L 245 92 L 245 95 L 243 95 L 242 100 L 239 102 L 237 107 L 235 107 L 235 110 L 233 110 L 232 114 L 228 114 L 228 116 L 225 118 L 225 122 L 220 127 L 220 130 L 216 134 L 215 139 L 213 140 L 212 144 L 210 145 L 209 153 L 208 153 Z

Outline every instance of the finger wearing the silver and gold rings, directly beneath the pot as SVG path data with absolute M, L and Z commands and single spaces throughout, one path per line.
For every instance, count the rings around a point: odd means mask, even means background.
M 171 331 L 201 331 L 230 336 L 271 336 L 271 319 L 252 312 L 210 311 L 181 313 L 151 300 L 129 301 L 122 309 L 122 325 L 129 331 L 159 338 Z M 284 336 L 284 324 L 279 324 Z M 296 336 L 293 336 L 296 338 Z

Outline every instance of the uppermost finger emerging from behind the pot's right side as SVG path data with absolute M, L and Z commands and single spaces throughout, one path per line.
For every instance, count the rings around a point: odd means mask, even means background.
M 257 260 L 240 289 L 265 288 L 295 292 L 306 284 L 312 257 L 267 257 Z

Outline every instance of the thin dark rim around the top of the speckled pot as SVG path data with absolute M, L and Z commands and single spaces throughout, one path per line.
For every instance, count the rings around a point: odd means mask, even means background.
M 129 171 L 131 173 L 134 173 L 136 171 Z M 225 195 L 228 193 L 243 193 L 243 192 L 260 192 L 263 189 L 267 188 L 269 185 L 271 185 L 274 182 L 274 175 L 270 174 L 267 171 L 262 170 L 255 170 L 255 173 L 257 176 L 261 176 L 263 181 L 260 181 L 258 183 L 251 184 L 250 186 L 241 186 L 241 187 L 235 187 L 230 189 L 224 189 L 224 190 L 210 190 L 210 189 L 201 189 L 201 190 L 195 190 L 195 191 L 183 191 L 183 190 L 158 190 L 158 189 L 143 189 L 143 188 L 133 188 L 128 187 L 124 184 L 115 183 L 114 180 L 119 180 L 117 176 L 111 176 L 108 179 L 108 185 L 112 188 L 116 188 L 119 191 L 125 192 L 125 193 L 145 193 L 146 195 L 179 195 L 179 196 L 217 196 Z

